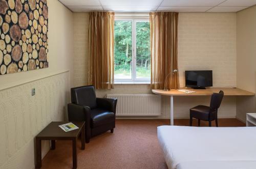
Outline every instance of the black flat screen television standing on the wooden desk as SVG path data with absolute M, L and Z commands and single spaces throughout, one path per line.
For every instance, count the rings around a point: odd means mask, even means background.
M 205 89 L 212 87 L 212 70 L 185 71 L 186 87 L 193 89 Z

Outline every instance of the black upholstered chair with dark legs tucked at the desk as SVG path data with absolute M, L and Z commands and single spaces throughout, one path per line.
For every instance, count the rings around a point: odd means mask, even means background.
M 211 121 L 216 122 L 218 127 L 218 108 L 221 105 L 222 98 L 224 96 L 223 91 L 214 93 L 211 95 L 210 106 L 198 105 L 190 108 L 190 126 L 192 126 L 193 118 L 198 119 L 198 126 L 200 126 L 200 120 L 208 121 L 209 127 L 211 127 Z

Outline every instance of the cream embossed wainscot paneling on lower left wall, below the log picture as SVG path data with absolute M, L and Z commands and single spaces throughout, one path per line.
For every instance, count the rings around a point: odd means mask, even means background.
M 69 97 L 69 72 L 0 91 L 0 168 L 34 167 L 34 137 L 65 119 Z M 42 148 L 44 155 L 49 146 Z

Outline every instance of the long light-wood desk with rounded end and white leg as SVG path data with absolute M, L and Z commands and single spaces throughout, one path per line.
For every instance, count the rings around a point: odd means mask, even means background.
M 172 89 L 170 91 L 163 91 L 160 89 L 152 90 L 158 95 L 170 96 L 170 125 L 174 125 L 174 96 L 210 96 L 212 93 L 219 93 L 220 90 L 224 92 L 224 96 L 254 96 L 254 93 L 238 89 L 238 88 L 208 88 L 208 89 L 188 89 L 196 93 L 179 92 L 180 89 Z

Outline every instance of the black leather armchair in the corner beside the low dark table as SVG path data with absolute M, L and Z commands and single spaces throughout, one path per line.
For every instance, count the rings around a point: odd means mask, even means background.
M 114 132 L 117 99 L 96 98 L 93 86 L 83 86 L 71 89 L 71 101 L 69 121 L 86 122 L 86 143 L 102 132 Z

